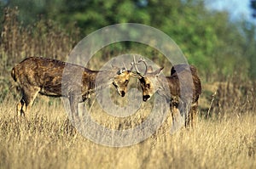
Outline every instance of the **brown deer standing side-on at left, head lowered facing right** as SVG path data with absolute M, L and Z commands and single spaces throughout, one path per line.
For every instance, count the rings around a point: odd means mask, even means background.
M 65 81 L 62 75 L 65 68 Z M 97 76 L 99 75 L 99 76 Z M 97 89 L 110 84 L 119 95 L 125 96 L 131 71 L 113 67 L 112 70 L 89 70 L 83 66 L 73 65 L 56 59 L 31 57 L 15 65 L 11 72 L 20 86 L 22 98 L 16 105 L 16 111 L 25 115 L 38 93 L 54 97 L 67 97 L 72 112 L 77 113 L 78 104 L 90 98 Z M 100 78 L 96 87 L 96 78 Z M 63 88 L 65 89 L 63 92 Z M 62 91 L 61 91 L 62 89 Z

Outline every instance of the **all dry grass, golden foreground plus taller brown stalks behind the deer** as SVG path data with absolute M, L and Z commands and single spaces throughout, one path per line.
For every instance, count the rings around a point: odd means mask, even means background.
M 207 84 L 210 88 L 201 97 L 201 115 L 194 129 L 170 135 L 169 112 L 153 136 L 125 148 L 105 147 L 82 137 L 67 120 L 60 99 L 41 97 L 26 118 L 15 115 L 20 95 L 12 87 L 11 68 L 32 55 L 65 60 L 78 31 L 68 33 L 50 20 L 24 27 L 16 20 L 17 9 L 7 8 L 5 13 L 0 44 L 0 168 L 256 167 L 255 83 Z M 98 61 L 92 60 L 91 66 L 103 64 Z M 149 104 L 143 103 L 126 118 L 111 117 L 95 104 L 91 115 L 105 127 L 124 130 L 147 118 Z

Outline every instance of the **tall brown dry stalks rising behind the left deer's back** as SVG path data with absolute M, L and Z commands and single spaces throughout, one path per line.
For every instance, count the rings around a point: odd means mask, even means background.
M 53 20 L 38 20 L 23 25 L 18 8 L 5 8 L 0 28 L 0 102 L 9 94 L 13 79 L 11 69 L 31 56 L 65 60 L 79 41 L 79 29 L 71 23 L 66 29 Z M 73 29 L 68 29 L 73 27 Z M 15 95 L 14 95 L 15 96 Z

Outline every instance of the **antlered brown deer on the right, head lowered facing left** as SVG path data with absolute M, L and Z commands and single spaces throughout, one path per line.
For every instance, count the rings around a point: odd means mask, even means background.
M 135 61 L 134 61 L 135 62 Z M 172 112 L 172 127 L 180 128 L 195 126 L 195 115 L 198 110 L 198 99 L 201 94 L 201 80 L 194 65 L 179 64 L 172 66 L 171 76 L 160 76 L 164 67 L 153 71 L 144 59 L 139 59 L 137 64 L 143 63 L 146 66 L 145 72 L 141 73 L 135 66 L 136 76 L 143 91 L 143 101 L 146 102 L 154 93 L 159 93 L 166 98 Z M 192 79 L 191 79 L 192 76 Z M 189 84 L 189 77 L 193 84 Z M 180 80 L 183 82 L 181 83 Z M 164 88 L 165 84 L 167 90 Z M 189 90 L 190 88 L 190 90 Z M 181 94 L 181 91 L 183 93 Z M 188 100 L 188 98 L 192 98 Z M 189 110 L 188 110 L 189 109 Z M 184 123 L 180 120 L 180 114 L 185 116 Z M 182 123 L 182 124 L 181 124 Z M 172 131 L 171 131 L 172 132 Z

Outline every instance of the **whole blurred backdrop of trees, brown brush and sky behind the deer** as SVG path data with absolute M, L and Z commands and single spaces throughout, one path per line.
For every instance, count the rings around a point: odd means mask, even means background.
M 0 100 L 9 93 L 10 70 L 22 59 L 65 60 L 91 32 L 126 22 L 150 25 L 172 37 L 198 68 L 206 110 L 216 92 L 217 111 L 234 104 L 234 98 L 246 104 L 254 97 L 256 0 L 0 0 L 0 16 Z M 131 51 L 166 65 L 154 48 L 135 42 L 102 48 L 91 65 Z

